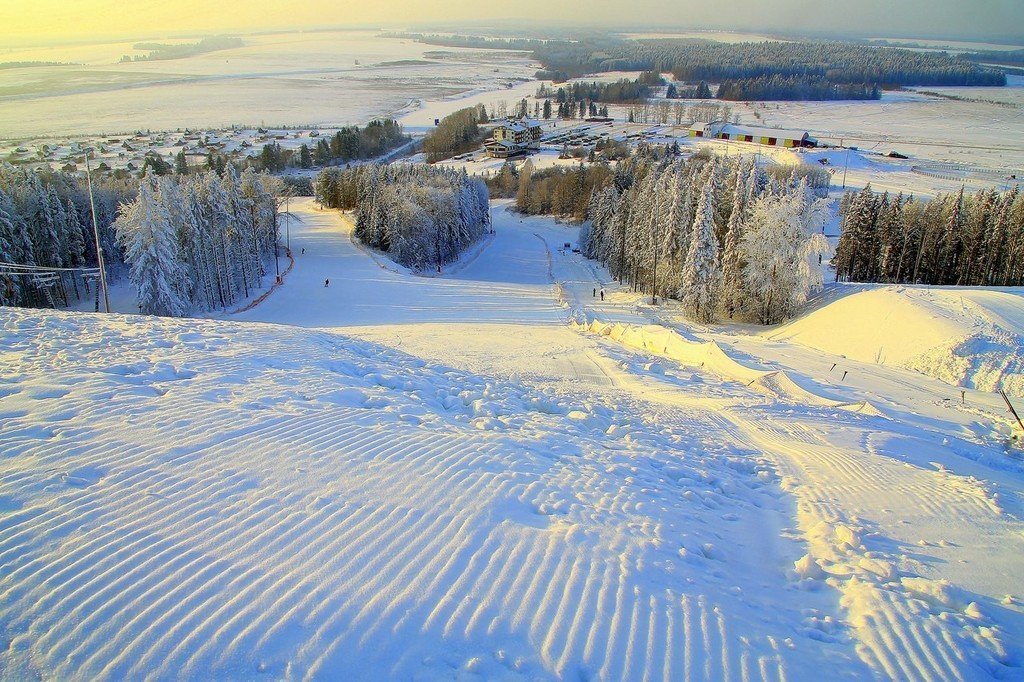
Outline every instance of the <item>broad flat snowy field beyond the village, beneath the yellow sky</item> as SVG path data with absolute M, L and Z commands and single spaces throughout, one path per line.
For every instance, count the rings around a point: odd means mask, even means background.
M 130 45 L 62 46 L 4 60 L 80 66 L 0 70 L 5 139 L 226 125 L 364 124 L 421 99 L 532 77 L 521 54 L 438 48 L 375 31 L 246 36 L 244 47 L 120 63 Z

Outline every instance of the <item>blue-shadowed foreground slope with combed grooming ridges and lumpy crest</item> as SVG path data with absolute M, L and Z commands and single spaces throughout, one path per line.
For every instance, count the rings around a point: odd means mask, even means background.
M 2 677 L 864 672 L 784 644 L 835 605 L 711 421 L 297 328 L 0 330 Z

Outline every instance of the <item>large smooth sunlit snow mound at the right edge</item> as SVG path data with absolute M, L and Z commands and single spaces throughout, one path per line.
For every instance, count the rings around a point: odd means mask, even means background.
M 1024 292 L 879 286 L 768 334 L 954 386 L 1024 396 Z

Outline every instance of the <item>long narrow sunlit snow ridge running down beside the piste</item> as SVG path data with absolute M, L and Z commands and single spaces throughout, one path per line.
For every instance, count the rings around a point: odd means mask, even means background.
M 689 341 L 659 325 L 624 325 L 574 318 L 575 329 L 606 336 L 626 346 L 664 355 L 680 365 L 702 368 L 727 381 L 735 381 L 773 397 L 812 407 L 838 408 L 862 414 L 881 414 L 867 401 L 844 402 L 809 391 L 780 370 L 746 367 L 729 356 L 715 341 Z

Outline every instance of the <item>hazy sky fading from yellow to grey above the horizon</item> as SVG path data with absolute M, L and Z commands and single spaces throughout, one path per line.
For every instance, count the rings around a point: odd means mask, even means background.
M 530 19 L 863 37 L 1024 37 L 1024 0 L 0 0 L 0 47 L 276 28 Z

